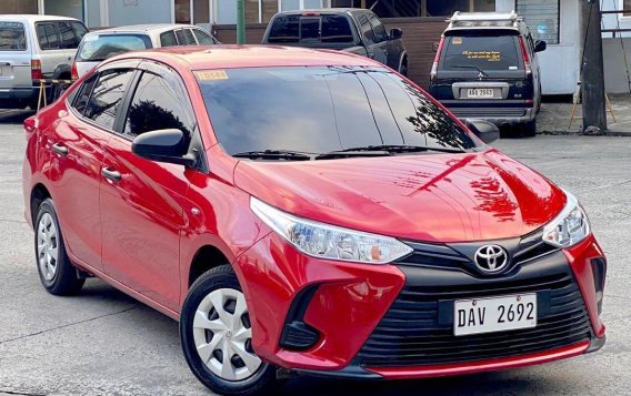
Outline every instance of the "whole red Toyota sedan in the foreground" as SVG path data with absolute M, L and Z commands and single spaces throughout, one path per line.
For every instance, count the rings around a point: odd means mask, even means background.
M 218 393 L 289 372 L 520 367 L 604 343 L 605 257 L 577 199 L 483 143 L 492 125 L 369 59 L 127 53 L 24 129 L 43 286 L 72 294 L 94 275 L 179 319 Z

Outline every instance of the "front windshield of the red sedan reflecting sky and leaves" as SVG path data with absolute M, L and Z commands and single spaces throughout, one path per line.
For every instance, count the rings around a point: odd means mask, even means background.
M 230 154 L 475 146 L 438 105 L 381 68 L 247 68 L 198 71 L 197 78 L 217 139 Z

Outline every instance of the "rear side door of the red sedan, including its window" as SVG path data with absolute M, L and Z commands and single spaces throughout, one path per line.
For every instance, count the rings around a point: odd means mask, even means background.
M 101 270 L 101 212 L 99 194 L 103 149 L 111 136 L 129 69 L 112 69 L 87 79 L 69 111 L 44 131 L 52 161 L 46 170 L 53 183 L 53 200 L 73 260 Z

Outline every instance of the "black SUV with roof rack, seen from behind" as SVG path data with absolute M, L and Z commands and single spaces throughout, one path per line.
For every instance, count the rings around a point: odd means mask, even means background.
M 534 40 L 517 13 L 455 12 L 442 34 L 430 93 L 459 118 L 537 133 L 541 72 Z

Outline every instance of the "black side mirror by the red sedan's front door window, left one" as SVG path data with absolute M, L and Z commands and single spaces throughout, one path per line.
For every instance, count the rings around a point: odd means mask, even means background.
M 131 151 L 143 159 L 193 166 L 196 159 L 189 155 L 189 141 L 177 129 L 158 130 L 139 134 L 131 144 Z

